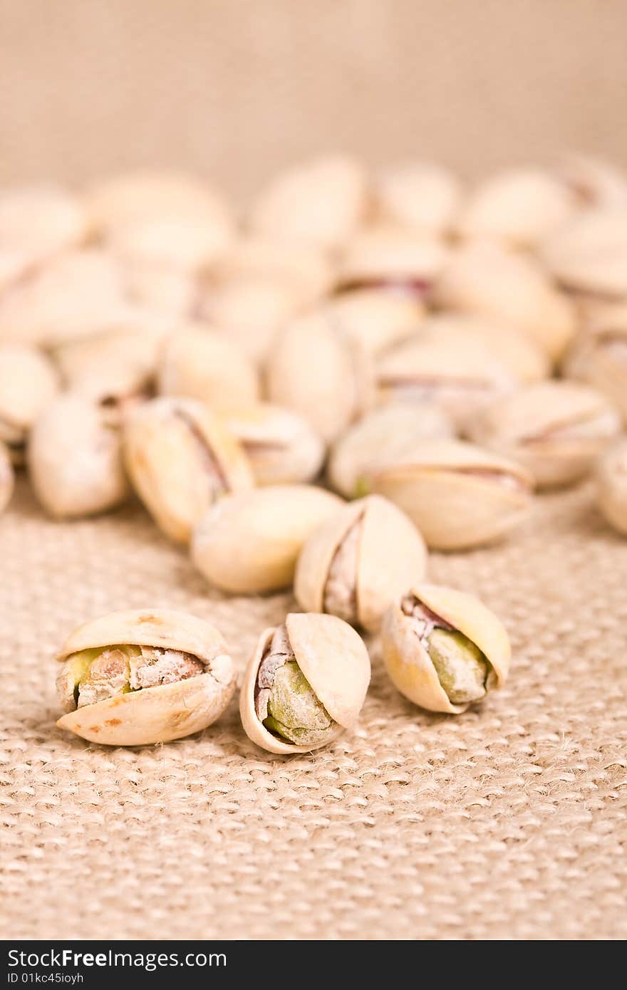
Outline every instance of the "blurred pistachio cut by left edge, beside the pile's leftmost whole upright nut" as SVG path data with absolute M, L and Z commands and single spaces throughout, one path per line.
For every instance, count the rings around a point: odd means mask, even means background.
M 24 463 L 31 427 L 57 389 L 46 354 L 27 344 L 0 344 L 0 441 L 15 464 Z

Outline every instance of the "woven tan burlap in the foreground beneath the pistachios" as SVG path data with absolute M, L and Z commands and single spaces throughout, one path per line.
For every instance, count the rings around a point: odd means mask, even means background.
M 201 736 L 123 749 L 54 726 L 55 649 L 120 608 L 215 622 L 242 668 L 287 595 L 227 599 L 138 505 L 0 520 L 0 929 L 25 938 L 627 936 L 627 541 L 590 485 L 509 542 L 433 554 L 514 649 L 501 692 L 433 716 L 372 644 L 358 731 L 312 755 L 250 743 L 234 702 Z

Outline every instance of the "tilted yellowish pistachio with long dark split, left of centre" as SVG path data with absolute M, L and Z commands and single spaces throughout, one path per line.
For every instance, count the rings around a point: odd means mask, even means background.
M 250 488 L 248 458 L 221 420 L 195 399 L 152 399 L 124 425 L 133 486 L 171 540 L 187 543 L 216 499 Z

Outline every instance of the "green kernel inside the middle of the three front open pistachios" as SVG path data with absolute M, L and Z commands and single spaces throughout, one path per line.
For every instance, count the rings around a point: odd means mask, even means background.
M 313 745 L 336 728 L 295 660 L 280 666 L 274 676 L 263 725 L 297 745 Z

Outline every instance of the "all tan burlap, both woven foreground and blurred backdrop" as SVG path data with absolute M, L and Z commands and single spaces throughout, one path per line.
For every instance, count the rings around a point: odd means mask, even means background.
M 0 3 L 0 178 L 185 164 L 246 195 L 326 147 L 469 172 L 563 147 L 627 160 L 621 0 Z M 313 756 L 235 705 L 164 747 L 66 738 L 52 654 L 115 608 L 215 621 L 241 668 L 288 596 L 210 594 L 130 506 L 0 519 L 0 932 L 30 938 L 627 937 L 627 542 L 583 486 L 508 543 L 435 554 L 514 646 L 459 719 L 412 708 L 373 644 L 359 731 Z

